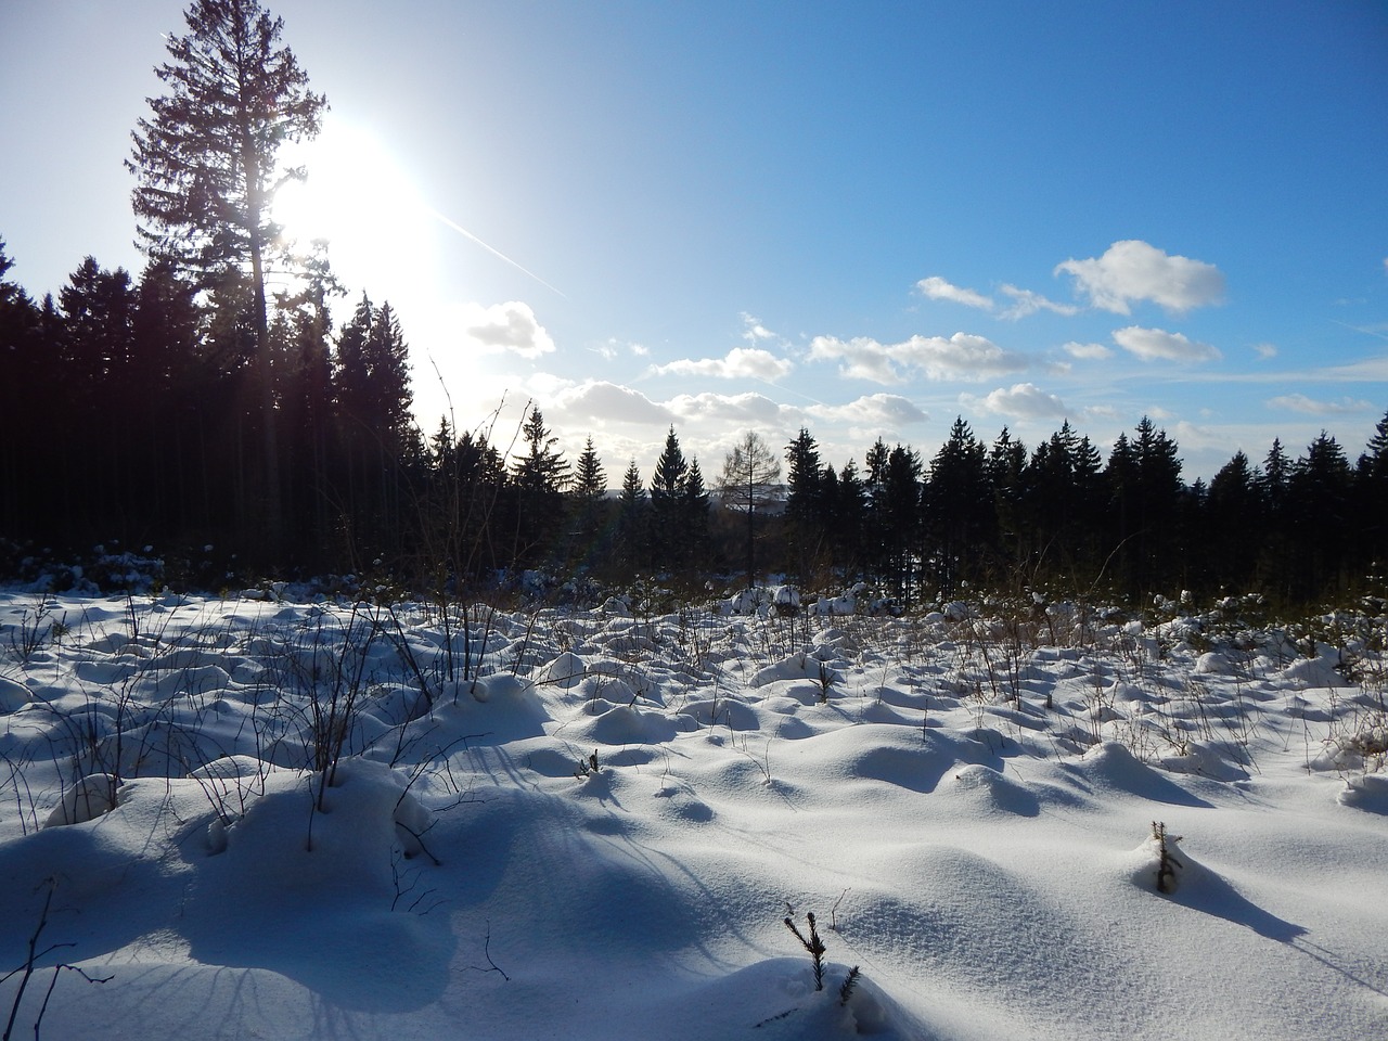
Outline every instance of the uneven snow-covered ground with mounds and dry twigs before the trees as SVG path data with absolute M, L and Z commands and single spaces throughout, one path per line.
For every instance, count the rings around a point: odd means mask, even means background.
M 1388 1037 L 1384 666 L 1307 650 L 0 594 L 0 1022 Z

